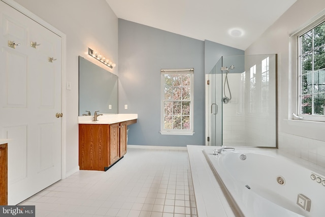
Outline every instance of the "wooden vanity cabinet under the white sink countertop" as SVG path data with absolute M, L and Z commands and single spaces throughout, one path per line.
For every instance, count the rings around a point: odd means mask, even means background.
M 106 171 L 126 153 L 127 126 L 137 120 L 113 124 L 79 124 L 80 170 Z

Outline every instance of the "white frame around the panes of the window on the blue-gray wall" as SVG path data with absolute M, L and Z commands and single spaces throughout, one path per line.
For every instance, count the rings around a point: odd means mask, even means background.
M 185 130 L 185 129 L 164 129 L 165 127 L 165 99 L 164 99 L 164 93 L 165 93 L 165 74 L 189 74 L 190 75 L 190 129 Z M 161 87 L 160 87 L 160 134 L 161 135 L 193 135 L 194 134 L 194 129 L 193 129 L 193 104 L 194 104 L 194 69 L 161 69 L 160 70 L 160 82 L 161 82 Z

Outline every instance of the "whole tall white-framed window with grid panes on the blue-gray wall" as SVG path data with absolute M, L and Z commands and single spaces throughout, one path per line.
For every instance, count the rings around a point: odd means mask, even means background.
M 161 70 L 161 134 L 193 134 L 193 73 Z

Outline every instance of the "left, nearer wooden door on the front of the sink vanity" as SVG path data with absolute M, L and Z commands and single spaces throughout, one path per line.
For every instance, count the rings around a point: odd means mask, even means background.
M 119 158 L 120 125 L 115 123 L 110 125 L 110 165 L 114 164 Z

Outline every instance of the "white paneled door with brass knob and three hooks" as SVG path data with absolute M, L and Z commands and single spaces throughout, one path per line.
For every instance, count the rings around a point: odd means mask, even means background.
M 61 38 L 0 1 L 0 138 L 8 203 L 61 179 Z

